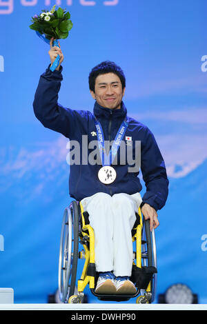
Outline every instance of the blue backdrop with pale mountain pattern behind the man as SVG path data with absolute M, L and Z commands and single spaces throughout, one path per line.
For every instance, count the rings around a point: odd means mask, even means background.
M 59 103 L 92 110 L 91 68 L 109 59 L 124 70 L 128 114 L 155 134 L 170 179 L 155 232 L 157 293 L 181 282 L 207 303 L 206 0 L 0 1 L 0 287 L 14 289 L 14 303 L 47 303 L 57 289 L 68 141 L 34 117 L 50 59 L 28 27 L 55 3 L 74 24 L 61 40 Z

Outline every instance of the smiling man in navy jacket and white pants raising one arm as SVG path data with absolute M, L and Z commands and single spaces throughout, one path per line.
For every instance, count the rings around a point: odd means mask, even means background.
M 140 206 L 144 218 L 150 220 L 150 230 L 159 225 L 157 210 L 165 205 L 168 196 L 165 163 L 150 130 L 127 116 L 122 101 L 126 80 L 124 72 L 115 63 L 102 62 L 90 72 L 94 114 L 63 108 L 57 102 L 63 79 L 63 53 L 61 48 L 52 47 L 52 41 L 49 51 L 51 65 L 58 54 L 60 63 L 54 72 L 49 65 L 41 75 L 34 97 L 34 114 L 45 127 L 60 132 L 70 141 L 78 141 L 81 152 L 86 146 L 83 136 L 88 136 L 89 143 L 97 139 L 97 160 L 101 163 L 86 163 L 86 156 L 82 153 L 81 163 L 70 165 L 70 196 L 81 201 L 95 232 L 95 265 L 99 272 L 95 291 L 100 294 L 134 294 L 136 288 L 130 276 L 133 257 L 131 230 L 136 220 L 135 213 Z M 134 156 L 137 141 L 141 141 L 141 172 L 146 183 L 142 199 L 139 170 L 130 170 L 128 161 L 121 163 L 121 143 L 124 147 L 130 146 Z M 88 154 L 90 152 L 91 149 Z M 116 163 L 113 163 L 115 158 Z

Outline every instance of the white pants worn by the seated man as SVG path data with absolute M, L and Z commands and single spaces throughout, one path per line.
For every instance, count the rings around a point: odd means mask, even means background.
M 95 265 L 97 272 L 113 271 L 115 276 L 131 276 L 133 247 L 131 230 L 135 212 L 141 204 L 137 194 L 98 192 L 82 199 L 95 232 Z

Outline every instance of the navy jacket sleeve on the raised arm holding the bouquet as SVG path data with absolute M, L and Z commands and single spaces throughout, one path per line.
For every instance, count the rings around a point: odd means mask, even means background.
M 41 74 L 39 84 L 34 95 L 34 114 L 41 121 L 44 127 L 55 130 L 64 136 L 71 138 L 79 130 L 79 118 L 76 110 L 63 108 L 58 101 L 58 93 L 63 80 L 63 68 L 51 71 L 50 65 L 46 72 Z

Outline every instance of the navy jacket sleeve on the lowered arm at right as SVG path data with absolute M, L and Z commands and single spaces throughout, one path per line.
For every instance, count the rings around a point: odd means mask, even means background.
M 161 210 L 168 198 L 166 166 L 152 132 L 146 128 L 144 143 L 141 142 L 141 173 L 146 184 L 142 201 L 155 210 Z

